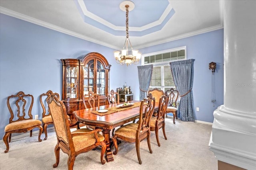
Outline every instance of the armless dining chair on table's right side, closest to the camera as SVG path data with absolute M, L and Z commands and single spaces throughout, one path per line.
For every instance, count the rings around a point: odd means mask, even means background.
M 152 94 L 148 94 L 148 98 L 144 99 L 140 103 L 140 116 L 138 123 L 129 123 L 118 128 L 115 131 L 113 137 L 113 142 L 116 150 L 113 152 L 114 155 L 118 152 L 117 139 L 122 139 L 128 143 L 136 143 L 136 152 L 139 164 L 142 164 L 140 159 L 140 141 L 147 139 L 148 149 L 152 153 L 150 146 L 150 120 L 153 115 L 155 108 L 155 99 L 152 97 Z M 144 107 L 144 103 L 146 106 Z

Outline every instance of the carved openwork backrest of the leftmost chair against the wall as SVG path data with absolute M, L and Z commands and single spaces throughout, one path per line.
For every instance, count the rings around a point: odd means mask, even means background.
M 16 95 L 7 98 L 7 107 L 11 117 L 9 123 L 33 119 L 31 110 L 34 103 L 34 97 L 24 92 L 18 92 Z

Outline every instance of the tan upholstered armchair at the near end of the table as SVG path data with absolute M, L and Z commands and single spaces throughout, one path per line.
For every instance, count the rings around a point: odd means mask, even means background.
M 81 128 L 71 132 L 70 119 L 68 119 L 63 102 L 58 100 L 54 94 L 50 96 L 47 102 L 57 137 L 57 144 L 54 149 L 56 163 L 53 164 L 53 168 L 56 168 L 60 162 L 60 149 L 68 154 L 68 170 L 72 170 L 78 154 L 88 152 L 98 146 L 101 146 L 100 162 L 105 164 L 106 160 L 103 159 L 103 156 L 106 151 L 106 143 L 104 137 L 99 134 L 101 129 Z

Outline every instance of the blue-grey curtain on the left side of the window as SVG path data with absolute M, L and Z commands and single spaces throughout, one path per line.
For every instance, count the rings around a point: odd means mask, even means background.
M 140 84 L 140 100 L 147 97 L 147 91 L 153 73 L 153 64 L 138 66 L 139 84 Z

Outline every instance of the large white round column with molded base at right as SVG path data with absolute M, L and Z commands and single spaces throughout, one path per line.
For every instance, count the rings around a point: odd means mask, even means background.
M 256 169 L 256 1 L 224 0 L 224 105 L 214 111 L 210 150 Z

